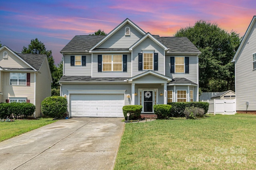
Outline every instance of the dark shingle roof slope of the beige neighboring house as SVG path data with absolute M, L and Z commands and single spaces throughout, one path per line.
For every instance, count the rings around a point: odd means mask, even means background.
M 23 54 L 18 53 L 22 59 L 24 59 L 28 64 L 30 64 L 32 67 L 36 68 L 36 70 L 39 70 L 45 57 L 47 57 L 45 54 Z

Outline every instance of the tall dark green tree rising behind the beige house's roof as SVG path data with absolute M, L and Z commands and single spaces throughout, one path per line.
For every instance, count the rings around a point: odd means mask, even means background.
M 28 47 L 23 47 L 21 53 L 29 54 L 46 54 L 48 58 L 48 63 L 50 66 L 51 73 L 55 71 L 56 66 L 54 65 L 54 58 L 52 57 L 52 50 L 46 50 L 44 43 L 39 41 L 37 38 L 32 39 Z

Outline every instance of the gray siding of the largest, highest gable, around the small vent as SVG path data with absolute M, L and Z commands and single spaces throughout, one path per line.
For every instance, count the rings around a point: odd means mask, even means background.
M 124 35 L 125 27 L 130 27 L 130 35 Z M 126 24 L 108 38 L 98 48 L 129 48 L 136 43 L 143 35 L 132 25 Z

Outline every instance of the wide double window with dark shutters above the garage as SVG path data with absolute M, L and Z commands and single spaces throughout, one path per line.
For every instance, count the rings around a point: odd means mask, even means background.
M 103 71 L 122 71 L 122 55 L 102 55 Z

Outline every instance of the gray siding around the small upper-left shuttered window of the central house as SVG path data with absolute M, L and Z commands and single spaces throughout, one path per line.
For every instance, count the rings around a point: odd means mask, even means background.
M 73 55 L 73 54 L 72 54 Z M 70 66 L 70 56 L 64 55 L 64 75 L 65 76 L 91 76 L 92 75 L 92 54 L 74 54 L 86 56 L 86 66 Z

